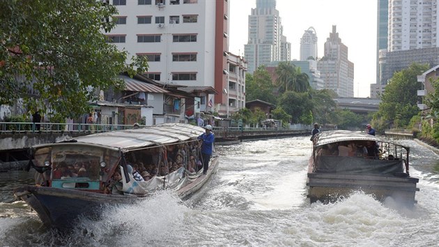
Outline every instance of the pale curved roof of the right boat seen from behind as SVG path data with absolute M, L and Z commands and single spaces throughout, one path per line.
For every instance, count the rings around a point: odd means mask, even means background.
M 392 140 L 386 140 L 375 135 L 369 135 L 360 131 L 350 130 L 331 130 L 318 133 L 314 138 L 314 147 L 330 144 L 334 142 L 350 142 L 350 141 L 373 141 L 373 142 L 387 142 L 392 143 L 408 149 L 403 144 L 394 142 Z

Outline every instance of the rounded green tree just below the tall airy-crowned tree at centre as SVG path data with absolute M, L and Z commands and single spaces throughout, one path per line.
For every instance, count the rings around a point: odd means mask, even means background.
M 287 91 L 279 98 L 279 107 L 282 107 L 287 114 L 291 115 L 291 123 L 300 123 L 300 118 L 314 107 L 308 93 Z

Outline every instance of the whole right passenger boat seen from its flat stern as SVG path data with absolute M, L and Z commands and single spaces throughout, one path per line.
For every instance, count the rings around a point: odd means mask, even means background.
M 366 133 L 319 133 L 309 158 L 307 197 L 328 203 L 360 190 L 413 206 L 419 179 L 410 177 L 409 153 L 409 147 Z

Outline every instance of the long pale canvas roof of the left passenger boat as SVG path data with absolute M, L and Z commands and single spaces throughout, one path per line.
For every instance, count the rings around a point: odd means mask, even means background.
M 105 133 L 84 135 L 70 140 L 56 142 L 75 143 L 90 146 L 100 146 L 109 149 L 121 149 L 123 152 L 148 147 L 157 147 L 187 140 L 195 140 L 205 130 L 199 126 L 185 123 L 163 123 L 146 128 L 133 128 L 128 130 L 116 130 Z M 38 147 L 47 147 L 54 144 L 43 144 Z

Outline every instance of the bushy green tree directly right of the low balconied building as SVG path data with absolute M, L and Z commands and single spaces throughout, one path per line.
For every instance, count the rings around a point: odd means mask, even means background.
M 245 76 L 245 100 L 263 100 L 275 104 L 274 86 L 265 66 L 259 66 L 253 73 Z

